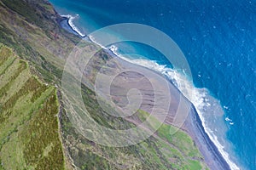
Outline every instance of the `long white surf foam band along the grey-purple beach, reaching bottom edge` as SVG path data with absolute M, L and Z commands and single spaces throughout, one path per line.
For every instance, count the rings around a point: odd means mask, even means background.
M 218 137 L 212 132 L 212 130 L 207 127 L 205 117 L 203 116 L 204 110 L 206 107 L 210 107 L 212 102 L 215 104 L 218 103 L 217 99 L 215 101 L 209 102 L 207 99 L 207 95 L 210 95 L 207 88 L 195 88 L 193 82 L 189 82 L 187 77 L 185 77 L 180 72 L 173 70 L 171 68 L 167 68 L 166 65 L 159 65 L 156 61 L 148 60 L 148 59 L 128 59 L 121 54 L 118 53 L 118 48 L 112 45 L 109 50 L 112 51 L 113 54 L 119 56 L 121 59 L 125 59 L 126 61 L 147 67 L 148 69 L 152 69 L 154 71 L 158 71 L 163 75 L 166 75 L 170 78 L 172 83 L 183 93 L 183 95 L 189 99 L 189 101 L 195 105 L 195 110 L 197 111 L 202 125 L 205 128 L 205 132 L 212 140 L 213 144 L 215 144 L 218 148 L 218 151 L 224 157 L 225 161 L 230 165 L 230 168 L 233 170 L 239 170 L 240 168 L 236 166 L 236 163 L 230 160 L 229 154 L 224 150 L 224 145 L 220 144 L 218 141 Z M 213 104 L 214 104 L 213 103 Z M 219 105 L 219 104 L 218 104 Z

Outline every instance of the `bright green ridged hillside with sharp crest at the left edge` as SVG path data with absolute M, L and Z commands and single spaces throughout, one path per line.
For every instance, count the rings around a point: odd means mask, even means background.
M 64 169 L 55 87 L 0 46 L 0 169 Z

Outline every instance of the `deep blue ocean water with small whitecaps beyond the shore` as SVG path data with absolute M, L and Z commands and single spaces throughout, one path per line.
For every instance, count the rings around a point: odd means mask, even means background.
M 255 1 L 50 2 L 60 14 L 79 14 L 73 24 L 86 34 L 103 26 L 131 22 L 154 26 L 172 37 L 189 61 L 194 88 L 211 105 L 201 111 L 206 126 L 229 153 L 230 161 L 241 169 L 256 169 Z M 166 69 L 171 67 L 160 54 L 139 44 L 117 47 L 119 54 L 133 50 L 166 65 Z M 157 67 L 150 62 L 148 66 Z

